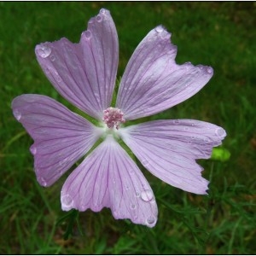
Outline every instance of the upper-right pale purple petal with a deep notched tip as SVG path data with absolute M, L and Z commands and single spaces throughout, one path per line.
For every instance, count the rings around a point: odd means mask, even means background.
M 177 65 L 177 47 L 162 26 L 137 46 L 119 85 L 116 107 L 125 119 L 138 119 L 171 108 L 207 84 L 212 67 Z

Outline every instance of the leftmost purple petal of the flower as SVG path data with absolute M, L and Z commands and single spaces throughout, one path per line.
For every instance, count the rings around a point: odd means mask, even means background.
M 30 150 L 42 186 L 55 183 L 101 136 L 99 128 L 48 96 L 18 96 L 12 108 L 34 140 Z

